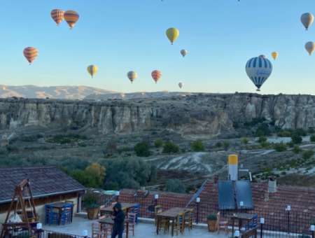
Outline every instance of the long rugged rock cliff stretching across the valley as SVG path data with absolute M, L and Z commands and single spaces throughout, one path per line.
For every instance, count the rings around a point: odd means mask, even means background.
M 126 101 L 0 99 L 2 130 L 27 125 L 97 128 L 99 133 L 173 130 L 185 137 L 213 137 L 232 121 L 265 117 L 283 128 L 315 127 L 315 96 L 249 93 L 199 94 Z

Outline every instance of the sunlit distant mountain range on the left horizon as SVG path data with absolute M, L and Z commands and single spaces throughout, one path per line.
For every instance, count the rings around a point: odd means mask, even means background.
M 109 90 L 102 90 L 97 87 L 87 86 L 53 86 L 38 87 L 35 85 L 8 86 L 3 91 L 0 89 L 1 97 L 25 97 L 25 98 L 55 98 L 55 99 L 84 99 L 90 94 L 111 94 L 118 93 Z

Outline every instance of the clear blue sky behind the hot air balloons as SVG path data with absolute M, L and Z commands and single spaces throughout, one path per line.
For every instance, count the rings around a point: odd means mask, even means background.
M 118 92 L 255 92 L 245 64 L 266 55 L 273 64 L 263 94 L 314 94 L 314 0 L 95 0 L 1 1 L 0 82 L 3 85 L 86 85 Z M 52 9 L 76 10 L 72 30 Z M 179 29 L 171 45 L 165 31 Z M 33 64 L 23 49 L 38 49 Z M 183 58 L 182 49 L 188 50 Z M 271 52 L 279 52 L 274 61 Z M 87 66 L 99 71 L 90 78 Z M 158 84 L 151 71 L 162 72 Z M 128 71 L 137 71 L 133 84 Z M 184 83 L 180 90 L 178 83 Z

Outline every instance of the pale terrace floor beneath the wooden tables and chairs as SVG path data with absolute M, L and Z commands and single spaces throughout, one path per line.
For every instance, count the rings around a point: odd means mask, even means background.
M 71 224 L 66 225 L 56 225 L 55 223 L 52 225 L 43 225 L 43 230 L 48 230 L 52 232 L 60 232 L 69 235 L 82 235 L 83 230 L 87 230 L 87 237 L 91 237 L 92 223 L 97 223 L 97 220 L 88 220 L 87 218 L 82 218 L 78 216 L 73 216 L 73 221 Z M 125 237 L 125 233 L 123 237 Z M 229 236 L 231 236 L 231 232 L 229 232 Z M 132 237 L 130 234 L 129 237 Z M 134 232 L 134 238 L 148 238 L 148 237 L 172 237 L 170 232 L 166 232 L 164 234 L 163 231 L 159 232 L 159 235 L 156 235 L 155 225 L 154 223 L 141 223 L 139 222 L 136 226 L 136 230 Z M 176 237 L 176 233 L 174 234 Z M 188 228 L 185 228 L 184 234 L 179 235 L 179 237 L 210 237 L 210 238 L 219 238 L 219 237 L 228 237 L 225 235 L 224 231 L 220 232 L 220 235 L 217 235 L 216 232 L 209 232 L 207 227 L 204 228 L 193 228 L 188 232 Z

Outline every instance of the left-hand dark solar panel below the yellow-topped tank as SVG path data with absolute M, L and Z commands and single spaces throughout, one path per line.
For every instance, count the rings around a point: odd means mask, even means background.
M 219 209 L 235 209 L 232 181 L 218 181 L 218 200 Z

